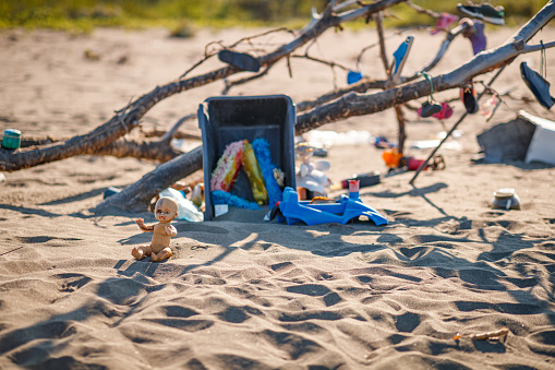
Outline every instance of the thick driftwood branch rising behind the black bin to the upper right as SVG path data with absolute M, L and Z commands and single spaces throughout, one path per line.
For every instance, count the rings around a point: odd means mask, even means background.
M 342 20 L 345 21 L 355 16 L 361 16 L 360 13 L 357 14 L 357 12 L 361 10 L 362 14 L 366 14 L 367 10 L 361 8 L 343 14 Z M 375 11 L 379 10 L 381 9 L 376 9 Z M 554 0 L 550 0 L 547 4 L 540 10 L 540 12 L 538 12 L 505 44 L 495 49 L 484 50 L 454 71 L 434 77 L 433 84 L 435 91 L 442 92 L 458 88 L 476 75 L 484 74 L 510 63 L 521 53 L 539 50 L 540 48 L 538 48 L 538 46 L 528 46 L 527 41 L 554 16 L 555 2 Z M 315 22 L 312 27 L 305 29 L 303 35 L 314 35 L 316 33 L 314 29 L 317 28 L 321 21 L 322 19 Z M 301 40 L 298 43 L 301 43 Z M 554 44 L 555 43 L 545 44 L 545 47 L 553 47 L 555 46 Z M 282 48 L 288 49 L 293 47 L 295 47 L 295 45 L 288 44 L 288 46 L 283 46 Z M 272 55 L 268 55 L 266 58 L 272 59 L 273 57 Z M 343 120 L 348 117 L 372 115 L 383 111 L 396 105 L 426 96 L 430 93 L 430 83 L 425 80 L 411 82 L 374 94 L 357 94 L 351 92 L 336 100 L 318 105 L 311 110 L 299 114 L 297 116 L 295 133 L 301 134 L 325 123 Z M 174 166 L 174 168 L 170 166 Z M 100 203 L 95 210 L 100 210 L 107 206 L 119 206 L 130 211 L 144 211 L 147 208 L 150 199 L 154 198 L 158 189 L 162 189 L 171 184 L 171 182 L 177 181 L 178 177 L 184 178 L 192 175 L 201 167 L 202 150 L 201 147 L 197 147 L 190 153 L 182 154 L 172 160 L 160 165 L 135 184 L 130 186 L 122 192 L 106 199 L 105 202 Z M 165 179 L 164 176 L 159 176 L 160 172 L 169 172 L 171 174 L 171 178 Z M 145 186 L 146 183 L 148 183 L 148 186 Z

